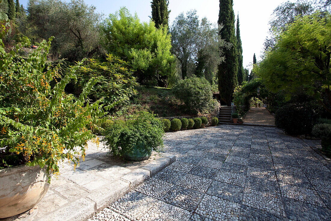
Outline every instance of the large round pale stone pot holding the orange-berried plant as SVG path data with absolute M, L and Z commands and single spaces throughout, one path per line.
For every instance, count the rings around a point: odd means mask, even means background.
M 49 186 L 45 168 L 22 165 L 0 169 L 0 218 L 31 209 L 44 197 Z

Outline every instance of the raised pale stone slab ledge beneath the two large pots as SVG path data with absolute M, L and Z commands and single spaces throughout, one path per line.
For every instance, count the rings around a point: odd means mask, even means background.
M 88 142 L 85 161 L 76 169 L 61 163 L 61 174 L 52 178 L 49 191 L 33 209 L 0 221 L 86 220 L 175 160 L 175 155 L 153 152 L 142 162 L 123 161 L 109 156 L 102 143 Z

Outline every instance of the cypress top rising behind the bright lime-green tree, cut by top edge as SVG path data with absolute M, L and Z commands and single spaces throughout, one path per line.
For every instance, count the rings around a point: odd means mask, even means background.
M 170 13 L 168 5 L 169 0 L 153 0 L 151 2 L 152 19 L 155 22 L 156 28 L 160 28 L 161 25 L 168 26 Z

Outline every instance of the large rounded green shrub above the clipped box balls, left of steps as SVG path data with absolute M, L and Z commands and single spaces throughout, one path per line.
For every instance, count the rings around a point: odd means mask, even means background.
M 210 83 L 204 78 L 186 78 L 173 88 L 173 94 L 185 105 L 188 112 L 210 113 L 213 93 Z

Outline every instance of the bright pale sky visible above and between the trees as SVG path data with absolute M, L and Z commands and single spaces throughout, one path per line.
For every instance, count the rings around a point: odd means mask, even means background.
M 20 3 L 26 6 L 28 0 Z M 67 0 L 69 1 L 69 0 Z M 268 22 L 272 11 L 286 0 L 234 0 L 234 12 L 239 12 L 240 35 L 243 44 L 244 67 L 251 68 L 253 54 L 257 60 L 263 49 L 263 42 L 268 35 Z M 295 0 L 290 0 L 294 2 Z M 89 5 L 94 5 L 97 11 L 108 15 L 115 13 L 122 6 L 126 6 L 131 13 L 137 12 L 142 21 L 149 21 L 151 15 L 151 0 L 85 0 Z M 218 20 L 218 0 L 170 0 L 170 23 L 181 12 L 196 9 L 201 18 L 207 17 L 211 22 Z

